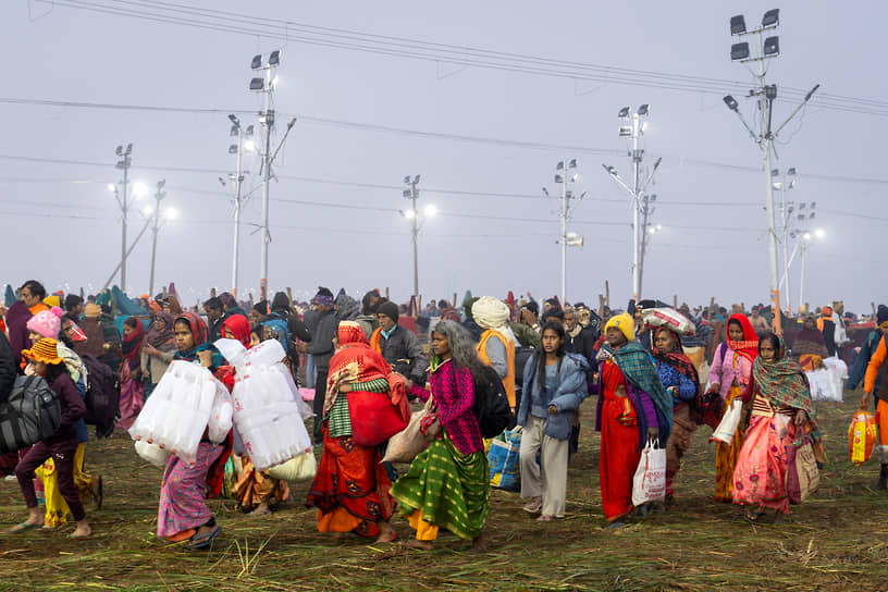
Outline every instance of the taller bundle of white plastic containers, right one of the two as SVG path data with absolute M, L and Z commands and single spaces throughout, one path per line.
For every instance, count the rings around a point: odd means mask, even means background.
M 266 470 L 311 448 L 304 423 L 311 410 L 281 362 L 285 356 L 281 343 L 268 340 L 247 350 L 235 340 L 219 340 L 215 346 L 236 369 L 234 425 L 256 469 Z

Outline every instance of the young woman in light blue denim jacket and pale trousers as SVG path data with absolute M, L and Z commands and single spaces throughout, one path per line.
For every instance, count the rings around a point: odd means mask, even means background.
M 518 410 L 521 431 L 521 497 L 525 511 L 541 522 L 564 518 L 570 420 L 588 394 L 582 357 L 566 354 L 566 333 L 559 322 L 543 325 L 542 349 L 525 366 L 525 387 Z M 542 462 L 538 465 L 536 457 Z

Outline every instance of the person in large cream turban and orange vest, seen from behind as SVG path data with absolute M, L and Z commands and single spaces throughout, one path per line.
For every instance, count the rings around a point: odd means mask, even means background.
M 482 296 L 471 307 L 472 319 L 483 330 L 478 358 L 503 379 L 509 407 L 515 414 L 515 334 L 509 329 L 509 308 L 493 296 Z

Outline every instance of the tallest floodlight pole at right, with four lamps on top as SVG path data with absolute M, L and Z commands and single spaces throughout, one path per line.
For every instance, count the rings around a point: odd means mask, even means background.
M 777 86 L 765 84 L 765 60 L 776 58 L 780 53 L 780 45 L 778 37 L 772 36 L 763 38 L 763 33 L 770 29 L 776 29 L 780 24 L 780 10 L 774 9 L 765 12 L 762 17 L 762 25 L 753 30 L 747 30 L 747 23 L 743 15 L 732 16 L 730 20 L 730 33 L 739 37 L 747 35 L 755 35 L 755 55 L 750 55 L 749 42 L 739 42 L 731 46 L 731 61 L 739 61 L 741 63 L 755 61 L 758 64 L 758 72 L 756 74 L 757 87 L 750 91 L 750 96 L 757 96 L 758 98 L 758 133 L 747 123 L 742 113 L 738 110 L 738 103 L 733 97 L 727 95 L 723 100 L 728 109 L 737 113 L 741 123 L 749 132 L 753 141 L 758 145 L 762 150 L 763 166 L 765 170 L 765 211 L 767 212 L 767 240 L 768 240 L 768 270 L 770 272 L 770 306 L 774 314 L 774 331 L 780 335 L 782 334 L 782 326 L 780 320 L 780 286 L 777 281 L 777 231 L 775 229 L 774 217 L 774 186 L 770 168 L 770 152 L 774 149 L 773 140 L 780 133 L 780 131 L 795 116 L 802 107 L 811 99 L 811 96 L 817 90 L 819 85 L 809 91 L 801 104 L 787 118 L 787 120 L 775 131 L 772 131 L 772 115 L 774 112 L 774 100 L 777 98 Z

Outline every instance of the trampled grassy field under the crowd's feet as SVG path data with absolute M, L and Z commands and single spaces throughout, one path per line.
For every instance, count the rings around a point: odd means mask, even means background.
M 292 485 L 295 504 L 267 517 L 212 502 L 223 532 L 213 551 L 188 552 L 155 536 L 160 471 L 118 431 L 88 445 L 90 472 L 106 479 L 88 541 L 67 539 L 72 527 L 5 533 L 25 508 L 17 483 L 0 482 L 0 590 L 888 590 L 888 494 L 874 489 L 875 460 L 848 460 L 859 394 L 846 395 L 818 405 L 828 464 L 819 491 L 782 525 L 751 525 L 739 506 L 712 501 L 714 445 L 701 429 L 675 507 L 617 531 L 602 528 L 590 399 L 566 518 L 540 525 L 517 494 L 495 491 L 483 554 L 449 535 L 432 552 L 328 539 L 301 505 L 307 483 Z M 410 535 L 403 520 L 395 528 Z

